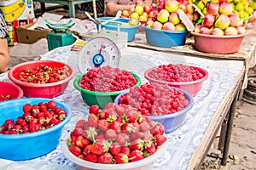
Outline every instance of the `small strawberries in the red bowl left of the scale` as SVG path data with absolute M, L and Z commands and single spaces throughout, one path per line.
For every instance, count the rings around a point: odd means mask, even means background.
M 71 71 L 67 66 L 50 67 L 48 65 L 38 65 L 35 69 L 26 69 L 21 71 L 18 78 L 22 82 L 44 84 L 59 82 L 69 77 L 70 74 Z

